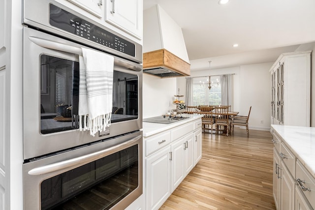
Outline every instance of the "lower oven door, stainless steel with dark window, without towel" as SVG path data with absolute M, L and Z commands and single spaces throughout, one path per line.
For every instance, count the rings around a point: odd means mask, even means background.
M 23 165 L 24 209 L 117 209 L 142 189 L 142 131 Z

